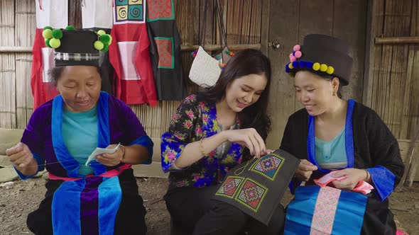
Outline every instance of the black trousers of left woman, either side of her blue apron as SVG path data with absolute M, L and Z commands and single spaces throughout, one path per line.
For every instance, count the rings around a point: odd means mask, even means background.
M 114 234 L 146 234 L 146 208 L 143 206 L 143 198 L 138 195 L 138 186 L 132 170 L 121 173 L 119 182 L 121 184 L 122 200 L 116 213 Z M 53 234 L 51 205 L 53 194 L 61 183 L 62 180 L 48 180 L 45 184 L 45 188 L 47 188 L 45 199 L 40 202 L 37 210 L 28 214 L 26 224 L 33 234 Z

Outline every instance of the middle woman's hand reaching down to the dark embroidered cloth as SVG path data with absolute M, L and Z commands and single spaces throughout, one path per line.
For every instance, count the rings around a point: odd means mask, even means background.
M 226 130 L 224 133 L 229 142 L 236 142 L 247 147 L 250 150 L 250 154 L 256 156 L 256 158 L 259 159 L 261 155 L 266 154 L 265 143 L 254 128 Z

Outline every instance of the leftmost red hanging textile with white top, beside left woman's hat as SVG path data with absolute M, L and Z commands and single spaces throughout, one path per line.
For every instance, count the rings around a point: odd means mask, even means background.
M 43 28 L 65 28 L 68 24 L 67 0 L 36 0 L 36 33 L 32 47 L 31 88 L 33 109 L 58 95 L 50 82 L 49 69 L 55 66 L 54 50 L 45 45 Z

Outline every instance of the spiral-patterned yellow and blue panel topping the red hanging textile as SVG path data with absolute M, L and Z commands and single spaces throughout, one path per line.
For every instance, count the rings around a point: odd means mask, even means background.
M 143 0 L 115 0 L 114 23 L 144 23 L 145 4 Z

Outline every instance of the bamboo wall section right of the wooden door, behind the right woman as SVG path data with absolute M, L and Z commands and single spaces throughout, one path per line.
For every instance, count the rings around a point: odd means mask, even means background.
M 376 44 L 374 38 L 419 36 L 419 1 L 376 0 L 371 10 L 364 103 L 396 138 L 411 139 L 419 122 L 419 44 Z

